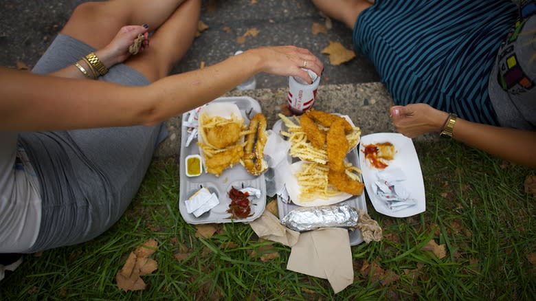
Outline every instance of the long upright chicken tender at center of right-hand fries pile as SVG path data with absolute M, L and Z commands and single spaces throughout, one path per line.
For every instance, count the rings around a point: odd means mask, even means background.
M 344 172 L 344 158 L 348 153 L 350 144 L 344 135 L 344 122 L 346 120 L 335 120 L 331 124 L 328 130 L 327 140 L 327 154 L 328 154 L 328 166 L 330 170 L 337 172 Z

